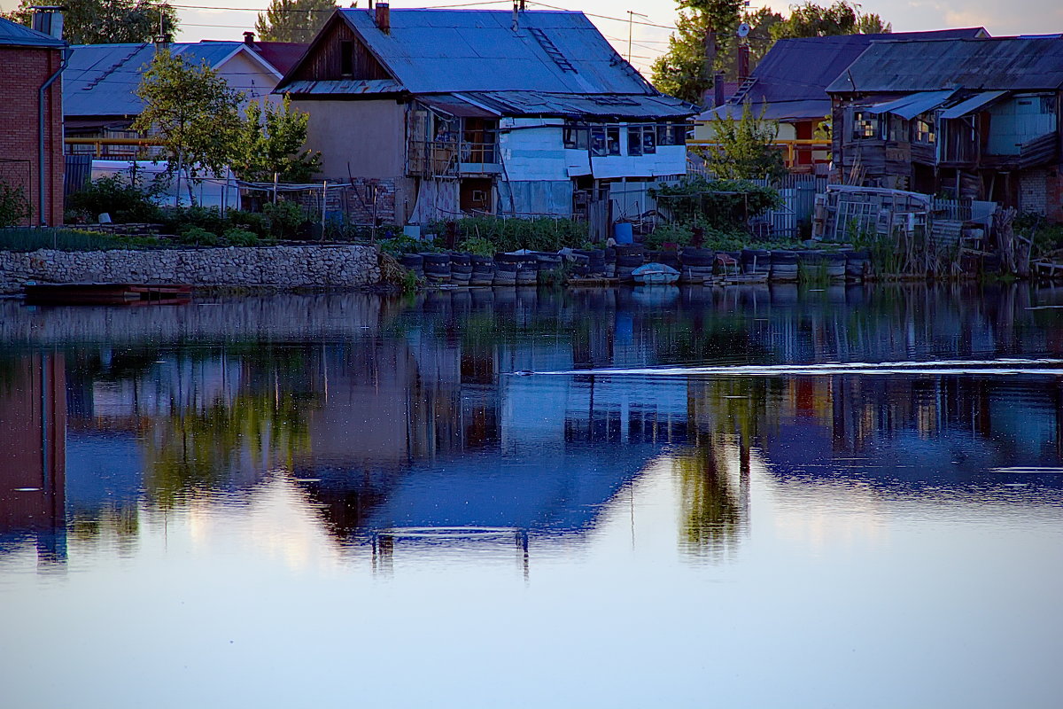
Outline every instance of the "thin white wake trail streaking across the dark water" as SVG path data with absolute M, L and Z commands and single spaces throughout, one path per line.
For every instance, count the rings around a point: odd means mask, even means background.
M 1063 376 L 1063 359 L 1006 357 L 1000 359 L 947 359 L 940 361 L 826 362 L 809 365 L 718 365 L 695 367 L 640 367 L 577 369 L 514 374 L 608 376 L 826 376 L 832 374 L 976 374 L 982 376 Z

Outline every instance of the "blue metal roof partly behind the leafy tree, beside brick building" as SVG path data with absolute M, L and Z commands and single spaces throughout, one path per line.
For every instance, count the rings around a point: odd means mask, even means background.
M 280 74 L 242 41 L 174 43 L 170 51 L 193 65 L 206 62 L 217 69 L 238 52 L 246 52 L 267 71 Z M 137 116 L 144 103 L 136 95 L 140 75 L 155 56 L 151 44 L 77 45 L 70 48 L 63 73 L 65 116 Z

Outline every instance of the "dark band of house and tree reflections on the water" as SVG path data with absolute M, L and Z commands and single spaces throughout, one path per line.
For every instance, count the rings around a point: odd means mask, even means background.
M 387 565 L 396 544 L 501 538 L 526 555 L 579 543 L 660 461 L 692 558 L 738 552 L 755 468 L 780 486 L 1058 505 L 1063 476 L 999 469 L 1060 467 L 1059 377 L 509 373 L 1052 356 L 1060 311 L 1041 306 L 1060 299 L 765 286 L 662 305 L 640 291 L 509 289 L 151 318 L 7 301 L 0 551 L 32 544 L 50 563 L 68 538 L 129 551 L 147 520 L 248 505 L 283 479 L 344 554 Z

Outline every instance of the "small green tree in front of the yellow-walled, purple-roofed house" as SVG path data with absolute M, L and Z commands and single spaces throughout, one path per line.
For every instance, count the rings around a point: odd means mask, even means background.
M 748 101 L 739 120 L 713 122 L 715 146 L 705 154 L 709 169 L 725 180 L 778 179 L 786 174 L 782 154 L 773 144 L 779 125 L 753 115 Z

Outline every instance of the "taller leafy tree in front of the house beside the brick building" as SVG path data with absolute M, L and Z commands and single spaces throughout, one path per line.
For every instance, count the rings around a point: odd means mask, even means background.
M 204 61 L 195 66 L 185 57 L 161 50 L 136 89 L 144 111 L 133 130 L 162 138 L 170 168 L 190 175 L 221 174 L 235 156 L 240 137 L 240 102 L 233 88 Z M 188 197 L 192 198 L 191 185 Z

